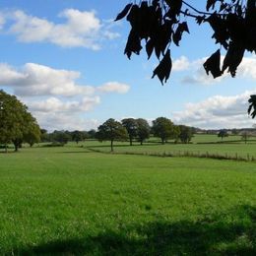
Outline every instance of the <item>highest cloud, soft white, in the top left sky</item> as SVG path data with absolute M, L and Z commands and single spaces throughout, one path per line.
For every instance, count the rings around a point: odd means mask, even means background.
M 0 28 L 17 35 L 22 42 L 51 42 L 62 47 L 100 48 L 102 39 L 119 36 L 109 26 L 96 17 L 94 11 L 66 9 L 59 14 L 62 23 L 53 23 L 46 19 L 26 14 L 22 10 L 9 11 L 0 15 Z M 9 21 L 9 27 L 5 21 Z

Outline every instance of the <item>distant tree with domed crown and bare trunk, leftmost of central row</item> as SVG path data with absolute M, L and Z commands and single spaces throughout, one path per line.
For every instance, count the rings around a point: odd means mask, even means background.
M 116 140 L 126 140 L 128 134 L 126 129 L 118 121 L 109 118 L 103 124 L 99 125 L 96 132 L 98 141 L 110 141 L 111 152 L 113 152 L 113 142 Z

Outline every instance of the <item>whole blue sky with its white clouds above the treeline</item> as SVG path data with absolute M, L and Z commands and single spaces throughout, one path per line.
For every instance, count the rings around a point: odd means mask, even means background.
M 255 123 L 246 114 L 256 93 L 255 55 L 246 55 L 235 79 L 207 77 L 202 63 L 219 45 L 208 25 L 188 19 L 190 34 L 171 46 L 173 70 L 162 87 L 151 79 L 156 58 L 123 55 L 129 24 L 113 19 L 128 2 L 1 1 L 0 88 L 24 101 L 48 130 L 90 130 L 109 117 L 165 116 L 201 128 Z M 190 2 L 204 8 L 204 1 Z

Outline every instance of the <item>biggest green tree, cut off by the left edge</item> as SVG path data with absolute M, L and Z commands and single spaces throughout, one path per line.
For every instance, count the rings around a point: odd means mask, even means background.
M 21 147 L 26 138 L 38 128 L 36 120 L 28 111 L 28 107 L 16 96 L 10 96 L 0 90 L 0 143 L 13 143 L 15 151 Z

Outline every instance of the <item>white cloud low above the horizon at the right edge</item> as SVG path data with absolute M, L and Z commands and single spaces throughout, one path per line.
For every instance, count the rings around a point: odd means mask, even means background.
M 184 111 L 174 112 L 175 123 L 200 128 L 250 127 L 254 120 L 248 117 L 248 98 L 256 91 L 237 96 L 211 96 L 198 103 L 188 103 Z

